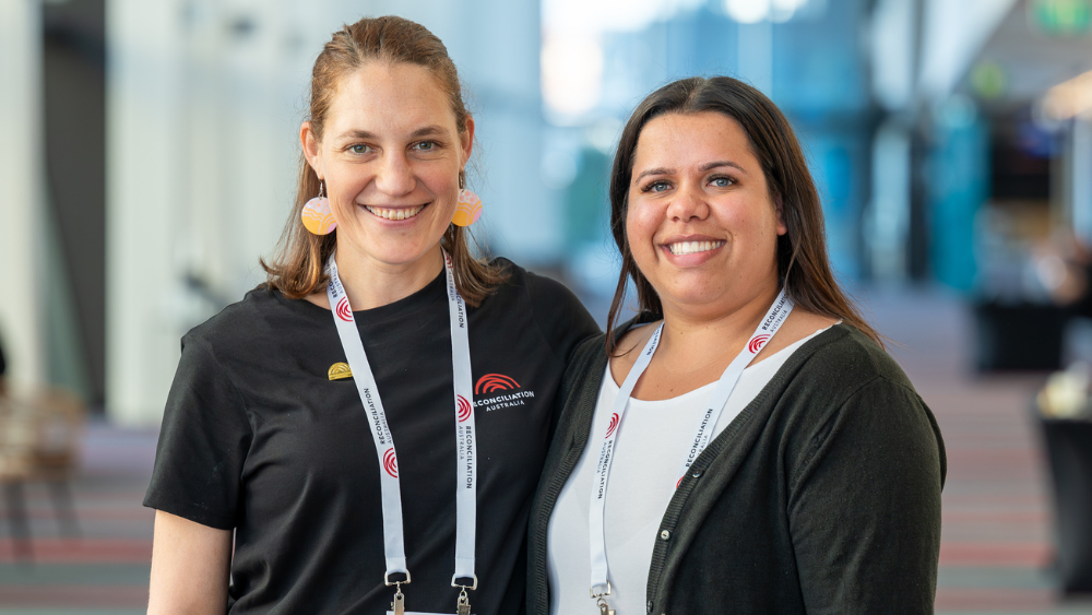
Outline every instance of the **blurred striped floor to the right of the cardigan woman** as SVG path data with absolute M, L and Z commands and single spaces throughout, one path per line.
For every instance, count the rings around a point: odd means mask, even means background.
M 1049 486 L 1029 404 L 1045 375 L 975 375 L 973 323 L 941 291 L 871 289 L 866 318 L 891 340 L 948 451 L 937 613 L 1087 613 L 1051 576 Z

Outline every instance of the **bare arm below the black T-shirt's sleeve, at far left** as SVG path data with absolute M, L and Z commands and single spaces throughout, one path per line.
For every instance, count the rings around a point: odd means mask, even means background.
M 232 532 L 155 511 L 149 615 L 227 611 Z

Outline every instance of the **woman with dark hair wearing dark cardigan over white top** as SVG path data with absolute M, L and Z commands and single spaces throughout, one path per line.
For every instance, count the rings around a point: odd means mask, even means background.
M 580 345 L 531 517 L 527 608 L 931 613 L 946 461 L 831 274 L 781 111 L 734 79 L 654 92 L 610 221 L 640 314 Z

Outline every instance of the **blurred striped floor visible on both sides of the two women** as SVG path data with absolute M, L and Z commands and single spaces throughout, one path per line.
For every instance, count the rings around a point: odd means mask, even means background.
M 859 298 L 946 439 L 937 613 L 1092 615 L 1092 602 L 1059 602 L 1049 575 L 1049 492 L 1028 413 L 1043 376 L 973 375 L 971 323 L 954 296 L 901 288 Z M 0 615 L 144 612 L 153 516 L 140 501 L 154 450 L 153 431 L 93 425 L 74 485 L 82 539 L 58 537 L 48 494 L 32 487 L 33 565 L 14 563 L 0 515 Z

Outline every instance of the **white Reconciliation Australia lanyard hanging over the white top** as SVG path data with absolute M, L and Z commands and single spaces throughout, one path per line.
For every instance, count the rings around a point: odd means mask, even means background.
M 705 450 L 709 446 L 709 441 L 716 426 L 716 421 L 721 417 L 721 412 L 724 410 L 725 403 L 728 401 L 728 397 L 732 395 L 732 391 L 736 388 L 736 383 L 739 381 L 739 377 L 743 375 L 744 369 L 750 364 L 756 355 L 762 350 L 763 346 L 776 334 L 778 330 L 788 318 L 788 315 L 793 311 L 793 300 L 788 298 L 785 294 L 784 288 L 782 288 L 781 294 L 774 299 L 773 305 L 762 317 L 762 321 L 759 323 L 755 333 L 751 334 L 750 339 L 747 341 L 747 345 L 744 350 L 736 355 L 736 358 L 728 364 L 728 367 L 721 375 L 721 379 L 716 383 L 716 388 L 713 389 L 713 394 L 709 398 L 709 403 L 707 405 L 705 413 L 702 414 L 701 421 L 698 423 L 698 431 L 693 437 L 690 449 L 687 451 L 686 460 L 682 463 L 682 469 L 679 473 L 679 480 L 675 484 L 678 486 L 682 482 L 682 476 L 686 475 L 687 470 L 690 464 L 693 463 L 701 451 Z M 618 397 L 615 398 L 614 406 L 612 407 L 610 421 L 607 424 L 606 434 L 603 438 L 603 447 L 600 449 L 598 462 L 595 465 L 595 477 L 592 481 L 592 502 L 589 509 L 587 525 L 589 525 L 589 537 L 591 543 L 591 556 L 592 556 L 592 598 L 596 599 L 597 604 L 602 613 L 613 613 L 606 606 L 606 601 L 603 596 L 610 594 L 610 580 L 607 567 L 607 545 L 606 535 L 604 534 L 604 510 L 606 505 L 606 493 L 607 493 L 607 477 L 610 475 L 610 463 L 614 461 L 615 452 L 615 441 L 618 439 L 618 433 L 621 430 L 621 422 L 626 416 L 626 409 L 629 407 L 629 398 L 633 393 L 633 387 L 637 386 L 637 381 L 641 379 L 641 375 L 644 374 L 645 368 L 649 367 L 649 363 L 652 360 L 652 355 L 656 352 L 656 346 L 660 345 L 660 335 L 663 333 L 663 323 L 656 328 L 656 331 L 652 334 L 652 339 L 644 345 L 644 350 L 641 351 L 641 355 L 637 357 L 637 362 L 633 364 L 633 368 L 629 370 L 629 375 L 626 376 L 626 380 L 622 381 L 621 388 L 618 390 Z M 609 378 L 609 370 L 607 371 L 607 378 Z

